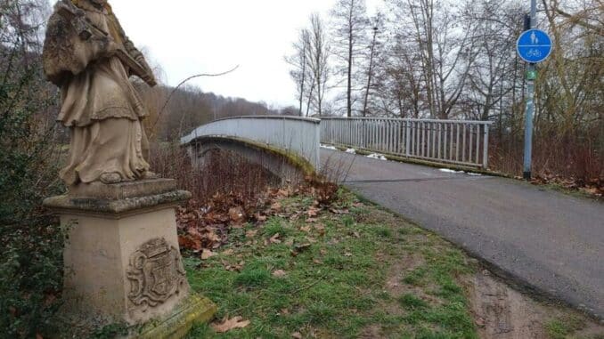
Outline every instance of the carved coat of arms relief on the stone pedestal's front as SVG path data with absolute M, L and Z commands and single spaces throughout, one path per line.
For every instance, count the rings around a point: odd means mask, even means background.
M 130 256 L 127 278 L 130 301 L 145 308 L 166 302 L 186 286 L 180 253 L 163 238 L 147 241 Z

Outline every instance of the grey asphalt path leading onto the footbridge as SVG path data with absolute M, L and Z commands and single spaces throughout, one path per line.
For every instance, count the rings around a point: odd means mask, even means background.
M 604 319 L 604 204 L 525 182 L 321 150 L 345 185 Z

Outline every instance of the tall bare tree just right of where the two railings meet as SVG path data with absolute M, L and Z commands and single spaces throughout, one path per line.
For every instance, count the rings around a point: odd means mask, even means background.
M 362 55 L 366 45 L 368 22 L 365 1 L 339 0 L 331 11 L 331 18 L 335 26 L 335 53 L 343 61 L 341 73 L 346 75 L 347 117 L 352 117 L 355 59 Z

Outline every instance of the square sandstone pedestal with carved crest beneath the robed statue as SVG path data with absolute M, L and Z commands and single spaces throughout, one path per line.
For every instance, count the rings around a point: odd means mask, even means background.
M 175 206 L 188 198 L 158 179 L 80 185 L 46 199 L 68 234 L 64 312 L 140 326 L 132 337 L 176 338 L 211 319 L 216 306 L 190 294 L 178 249 Z

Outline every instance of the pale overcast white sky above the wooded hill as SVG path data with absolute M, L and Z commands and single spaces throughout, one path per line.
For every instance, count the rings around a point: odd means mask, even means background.
M 51 3 L 55 3 L 51 0 Z M 283 56 L 311 12 L 325 16 L 336 0 L 110 0 L 127 35 L 177 85 L 199 73 L 219 78 L 192 80 L 204 92 L 295 105 L 295 85 Z M 372 13 L 380 0 L 367 0 Z

